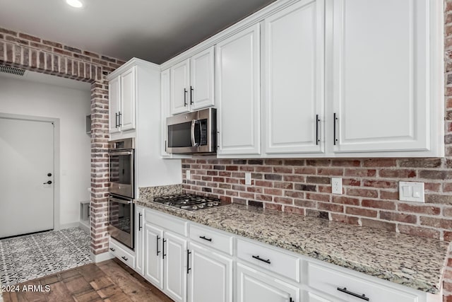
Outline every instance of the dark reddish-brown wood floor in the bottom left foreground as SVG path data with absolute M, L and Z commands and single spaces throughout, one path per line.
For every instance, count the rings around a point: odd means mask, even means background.
M 47 285 L 49 286 L 48 291 L 45 287 Z M 143 277 L 116 259 L 83 265 L 18 284 L 18 286 L 19 291 L 3 292 L 5 302 L 172 301 L 148 281 L 145 281 Z

